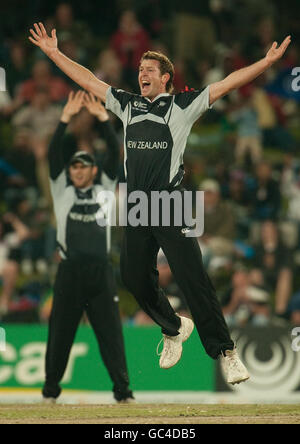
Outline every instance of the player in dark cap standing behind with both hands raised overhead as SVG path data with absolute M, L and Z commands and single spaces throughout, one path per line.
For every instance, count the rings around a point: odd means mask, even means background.
M 97 125 L 107 143 L 101 184 L 95 183 L 98 167 L 93 155 L 76 152 L 74 145 L 65 143 L 67 125 L 83 106 L 97 117 Z M 49 147 L 50 185 L 62 258 L 54 285 L 43 388 L 44 399 L 51 402 L 61 393 L 59 383 L 84 311 L 114 384 L 116 401 L 133 400 L 109 261 L 109 232 L 107 227 L 100 227 L 96 219 L 100 209 L 97 195 L 102 190 L 115 190 L 118 165 L 119 143 L 104 106 L 91 94 L 71 92 Z

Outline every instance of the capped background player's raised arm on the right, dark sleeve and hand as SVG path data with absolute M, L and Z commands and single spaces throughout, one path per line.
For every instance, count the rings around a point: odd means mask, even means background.
M 107 145 L 107 151 L 102 161 L 104 173 L 115 180 L 119 171 L 120 145 L 115 130 L 109 120 L 109 115 L 99 99 L 92 94 L 85 94 L 84 105 L 98 119 L 98 125 Z

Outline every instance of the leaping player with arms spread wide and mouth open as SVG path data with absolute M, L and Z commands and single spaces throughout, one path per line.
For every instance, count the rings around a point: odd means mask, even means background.
M 62 54 L 57 47 L 55 29 L 48 36 L 43 24 L 35 23 L 30 33 L 30 41 L 65 74 L 99 97 L 107 109 L 122 119 L 129 192 L 180 189 L 183 154 L 195 121 L 216 100 L 267 70 L 282 57 L 291 40 L 287 37 L 279 47 L 274 42 L 263 59 L 203 91 L 176 95 L 171 95 L 173 64 L 163 54 L 148 52 L 140 63 L 141 95 L 138 96 L 111 87 Z M 140 141 L 146 148 L 134 149 Z M 165 149 L 150 149 L 154 144 Z M 182 344 L 191 335 L 193 322 L 177 316 L 159 288 L 156 262 L 161 247 L 183 291 L 206 352 L 213 359 L 221 357 L 228 383 L 240 383 L 249 379 L 249 374 L 230 338 L 216 291 L 204 270 L 198 243 L 195 238 L 185 236 L 182 228 L 126 227 L 121 257 L 123 280 L 143 310 L 162 327 L 164 347 L 160 366 L 172 367 L 181 358 Z

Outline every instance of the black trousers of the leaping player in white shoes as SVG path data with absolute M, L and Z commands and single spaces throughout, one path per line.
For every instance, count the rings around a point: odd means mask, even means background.
M 160 247 L 186 298 L 207 354 L 217 359 L 223 351 L 232 350 L 234 344 L 195 238 L 186 237 L 181 227 L 127 226 L 121 254 L 124 284 L 164 334 L 178 334 L 180 319 L 159 288 L 157 254 Z

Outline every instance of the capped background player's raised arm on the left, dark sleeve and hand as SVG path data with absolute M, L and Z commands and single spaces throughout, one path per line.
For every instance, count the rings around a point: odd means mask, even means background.
M 68 147 L 64 143 L 64 134 L 68 123 L 71 118 L 77 114 L 83 106 L 84 91 L 77 91 L 76 94 L 73 91 L 70 92 L 68 101 L 64 106 L 60 122 L 56 131 L 50 141 L 48 150 L 49 170 L 50 178 L 56 180 L 57 177 L 66 167 L 69 158 L 72 153 L 68 153 Z

